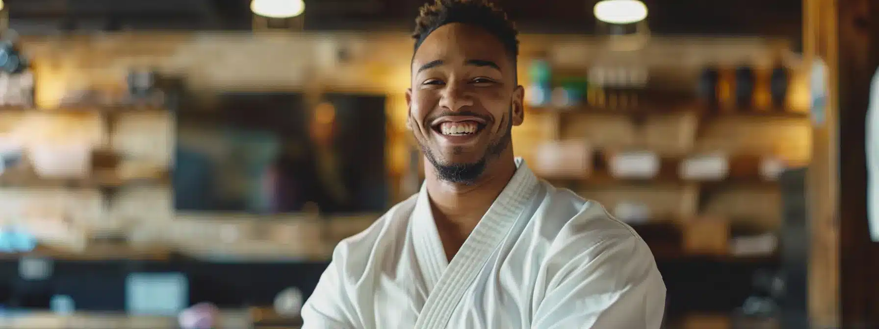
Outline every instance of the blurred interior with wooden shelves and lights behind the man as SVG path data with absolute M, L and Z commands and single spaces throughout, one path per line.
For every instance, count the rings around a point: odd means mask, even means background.
M 844 45 L 875 5 L 495 2 L 521 32 L 515 153 L 636 228 L 668 328 L 871 327 L 879 253 L 839 244 L 866 207 L 838 213 L 866 193 L 839 151 L 863 153 L 866 105 L 838 109 L 866 99 L 839 85 L 879 61 L 839 59 L 876 57 Z M 0 327 L 295 328 L 336 243 L 423 179 L 423 0 L 0 4 Z

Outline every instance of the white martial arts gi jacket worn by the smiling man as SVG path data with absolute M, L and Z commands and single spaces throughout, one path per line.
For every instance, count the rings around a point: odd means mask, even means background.
M 303 328 L 658 329 L 665 284 L 644 241 L 516 164 L 452 261 L 424 186 L 340 242 Z

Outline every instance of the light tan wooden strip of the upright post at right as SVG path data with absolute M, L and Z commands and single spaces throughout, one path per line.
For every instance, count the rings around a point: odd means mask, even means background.
M 839 61 L 836 22 L 833 0 L 804 0 L 804 59 L 807 65 L 823 62 L 827 77 L 825 119 L 813 117 L 812 160 L 807 178 L 811 231 L 808 312 L 810 323 L 817 328 L 839 326 Z

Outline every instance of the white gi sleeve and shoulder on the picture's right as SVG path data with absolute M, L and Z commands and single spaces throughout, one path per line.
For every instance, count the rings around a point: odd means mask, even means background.
M 544 263 L 532 328 L 659 329 L 665 283 L 646 243 L 603 211 L 581 211 Z

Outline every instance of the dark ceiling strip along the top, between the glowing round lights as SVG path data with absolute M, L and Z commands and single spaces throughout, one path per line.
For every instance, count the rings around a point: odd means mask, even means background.
M 596 0 L 496 0 L 523 32 L 589 33 Z M 643 0 L 659 34 L 798 39 L 802 0 Z M 23 34 L 59 30 L 247 30 L 250 0 L 5 0 Z M 306 0 L 307 30 L 408 31 L 425 0 Z

